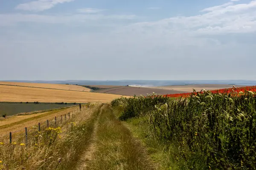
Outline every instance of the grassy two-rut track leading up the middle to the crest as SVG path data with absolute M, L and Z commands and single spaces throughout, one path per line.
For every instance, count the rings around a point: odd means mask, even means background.
M 153 170 L 145 148 L 130 130 L 116 119 L 109 105 L 103 105 L 90 145 L 81 155 L 77 170 Z

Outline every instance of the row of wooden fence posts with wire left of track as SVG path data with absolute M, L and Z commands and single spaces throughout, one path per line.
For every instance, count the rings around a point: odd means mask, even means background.
M 78 113 L 81 110 L 82 110 L 81 104 L 79 104 L 79 110 L 76 110 L 77 112 L 73 111 L 71 113 L 72 118 L 75 113 Z M 64 120 L 63 120 L 63 117 L 64 117 Z M 6 137 L 9 136 L 10 144 L 12 144 L 12 142 L 14 142 L 14 141 L 23 141 L 27 145 L 29 142 L 29 136 L 31 136 L 32 133 L 36 133 L 36 131 L 41 132 L 42 130 L 45 130 L 48 127 L 51 127 L 51 125 L 54 125 L 54 127 L 57 127 L 58 125 L 64 125 L 67 122 L 67 120 L 70 120 L 70 119 L 71 119 L 70 112 L 68 114 L 65 113 L 64 115 L 55 116 L 53 119 L 47 119 L 44 122 L 38 122 L 38 125 L 24 127 L 24 129 L 23 129 L 24 131 L 17 130 L 14 132 L 9 132 L 9 134 L 6 134 L 0 138 L 6 139 Z M 17 132 L 21 132 L 21 131 L 23 131 L 23 133 L 17 133 Z

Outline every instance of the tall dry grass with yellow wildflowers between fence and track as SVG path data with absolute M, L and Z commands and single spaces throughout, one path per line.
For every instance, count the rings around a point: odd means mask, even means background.
M 0 167 L 3 170 L 72 169 L 88 145 L 99 107 L 97 104 L 77 113 L 60 127 L 35 130 L 27 146 L 21 142 L 0 143 Z

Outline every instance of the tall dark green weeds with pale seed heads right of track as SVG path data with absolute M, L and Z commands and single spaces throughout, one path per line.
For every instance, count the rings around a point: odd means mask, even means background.
M 165 151 L 177 148 L 172 154 L 180 169 L 256 169 L 256 96 L 251 91 L 119 102 L 120 119 L 147 117 L 148 137 L 164 144 Z

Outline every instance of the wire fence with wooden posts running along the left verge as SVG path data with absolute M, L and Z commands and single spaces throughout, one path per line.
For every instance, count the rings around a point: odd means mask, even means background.
M 79 109 L 73 112 L 52 117 L 44 122 L 38 122 L 38 124 L 34 126 L 24 127 L 21 130 L 9 132 L 9 134 L 7 133 L 6 135 L 0 136 L 0 142 L 9 142 L 10 144 L 19 142 L 28 145 L 31 142 L 35 142 L 35 136 L 38 132 L 45 131 L 49 127 L 60 127 L 67 124 L 67 122 L 70 122 L 70 119 L 72 119 L 76 113 L 82 111 L 82 109 L 84 109 L 84 107 L 82 108 L 80 104 Z

